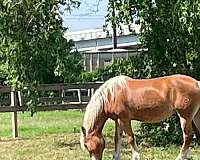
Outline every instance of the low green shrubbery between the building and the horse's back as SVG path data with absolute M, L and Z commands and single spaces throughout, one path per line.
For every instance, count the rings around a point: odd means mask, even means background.
M 118 75 L 127 75 L 133 78 L 150 78 L 151 61 L 147 61 L 147 54 L 138 54 L 128 59 L 115 59 L 113 64 L 94 72 L 83 72 L 81 80 L 84 82 L 106 81 Z

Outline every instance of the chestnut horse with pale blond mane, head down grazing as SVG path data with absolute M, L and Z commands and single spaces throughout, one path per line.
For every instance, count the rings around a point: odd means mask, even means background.
M 174 112 L 180 117 L 183 132 L 183 145 L 176 160 L 185 160 L 192 139 L 192 121 L 200 131 L 200 82 L 185 75 L 148 80 L 127 76 L 111 78 L 99 87 L 86 107 L 81 146 L 88 150 L 93 160 L 101 160 L 105 148 L 102 129 L 106 120 L 111 118 L 116 127 L 113 159 L 120 159 L 124 131 L 131 146 L 132 160 L 139 160 L 131 120 L 160 122 Z

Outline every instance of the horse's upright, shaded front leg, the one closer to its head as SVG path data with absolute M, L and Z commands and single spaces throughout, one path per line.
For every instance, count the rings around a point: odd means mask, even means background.
M 123 129 L 120 121 L 115 121 L 115 151 L 113 153 L 113 160 L 120 160 L 120 148 L 122 139 Z

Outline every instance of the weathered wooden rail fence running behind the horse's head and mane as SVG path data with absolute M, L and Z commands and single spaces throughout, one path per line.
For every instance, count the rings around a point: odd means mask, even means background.
M 103 82 L 81 84 L 43 84 L 36 87 L 39 94 L 37 111 L 84 109 L 94 91 Z M 12 112 L 12 135 L 18 137 L 17 112 L 26 111 L 23 91 L 0 86 L 0 112 Z

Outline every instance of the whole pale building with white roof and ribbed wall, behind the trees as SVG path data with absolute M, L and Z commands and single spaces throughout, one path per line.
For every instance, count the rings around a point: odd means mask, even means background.
M 65 38 L 74 41 L 74 49 L 83 56 L 85 70 L 93 71 L 112 63 L 115 58 L 128 58 L 137 54 L 140 48 L 139 30 L 140 26 L 136 24 L 131 28 L 123 26 L 121 30 L 118 30 L 117 49 L 112 49 L 112 34 L 110 34 L 112 28 L 107 32 L 103 29 L 67 32 Z

